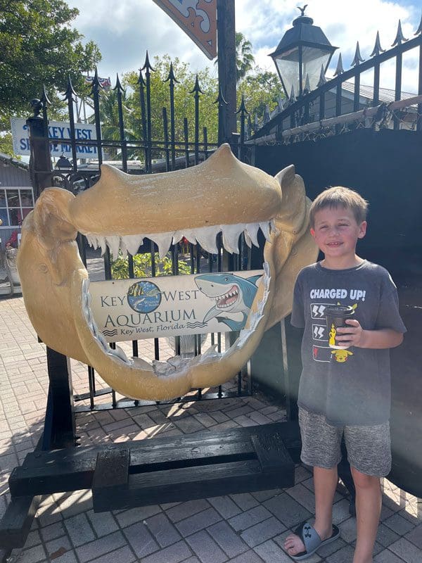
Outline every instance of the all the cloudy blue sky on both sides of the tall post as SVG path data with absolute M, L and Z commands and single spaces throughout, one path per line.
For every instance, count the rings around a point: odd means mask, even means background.
M 305 1 L 236 0 L 236 31 L 252 43 L 255 63 L 260 68 L 275 71 L 268 55 L 300 15 L 297 6 L 303 6 Z M 113 85 L 117 72 L 121 76 L 143 66 L 147 49 L 151 61 L 154 56 L 168 53 L 189 63 L 193 71 L 208 66 L 212 73 L 217 73 L 212 61 L 153 0 L 68 0 L 68 4 L 79 9 L 74 27 L 101 50 L 103 59 L 98 64 L 98 74 L 110 77 Z M 377 31 L 382 48 L 389 49 L 399 20 L 404 37 L 411 39 L 422 16 L 420 0 L 307 0 L 307 4 L 306 15 L 339 48 L 331 60 L 328 76 L 335 70 L 339 52 L 347 70 L 357 41 L 362 58 L 368 59 Z M 404 55 L 403 91 L 417 91 L 418 58 L 414 51 L 417 49 Z M 394 64 L 382 65 L 381 87 L 394 88 L 394 77 Z M 371 84 L 371 75 L 362 77 L 361 83 Z

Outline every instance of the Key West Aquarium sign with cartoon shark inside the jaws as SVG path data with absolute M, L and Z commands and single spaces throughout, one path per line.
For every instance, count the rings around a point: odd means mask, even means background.
M 108 342 L 241 330 L 262 270 L 94 281 L 91 312 Z

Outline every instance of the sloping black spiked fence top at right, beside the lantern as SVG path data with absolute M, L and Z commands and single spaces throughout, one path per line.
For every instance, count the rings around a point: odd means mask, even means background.
M 422 20 L 415 32 L 416 37 L 406 39 L 399 23 L 392 49 L 385 51 L 381 47 L 379 34 L 371 53 L 371 58 L 364 60 L 357 43 L 356 53 L 352 61 L 352 68 L 344 70 L 342 56 L 338 58 L 338 65 L 332 80 L 326 80 L 324 72 L 318 87 L 313 91 L 304 91 L 299 98 L 290 97 L 285 107 L 273 119 L 255 132 L 255 142 L 279 141 L 290 144 L 303 140 L 316 140 L 330 135 L 350 131 L 363 126 L 362 122 L 368 120 L 379 127 L 422 130 Z M 417 94 L 410 98 L 409 94 L 403 95 L 403 56 L 404 53 L 414 51 L 418 56 L 418 65 L 414 70 L 418 84 Z M 382 65 L 389 61 L 395 64 L 395 87 L 392 99 L 385 101 L 383 98 Z M 362 77 L 365 72 L 373 74 L 372 86 L 366 89 L 364 104 L 362 104 Z M 350 84 L 350 82 L 352 84 Z M 345 99 L 348 91 L 352 100 Z M 404 99 L 404 98 L 407 98 Z M 328 112 L 328 108 L 330 111 Z M 376 108 L 372 110 L 371 108 Z M 350 116 L 347 119 L 345 114 Z M 359 114 L 359 115 L 358 115 Z M 340 116 L 345 118 L 340 119 Z M 328 119 L 332 118 L 332 119 Z M 337 119 L 335 119 L 337 118 Z M 314 124 L 312 127 L 309 124 Z

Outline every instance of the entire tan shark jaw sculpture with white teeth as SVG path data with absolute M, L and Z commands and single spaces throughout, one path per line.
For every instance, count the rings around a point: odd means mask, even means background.
M 78 196 L 45 189 L 23 223 L 18 271 L 30 320 L 47 346 L 93 366 L 118 393 L 166 400 L 191 388 L 217 386 L 234 377 L 262 334 L 291 309 L 301 267 L 316 259 L 309 234 L 309 201 L 290 166 L 276 177 L 245 165 L 221 146 L 204 163 L 186 170 L 132 176 L 103 165 L 98 183 Z M 238 252 L 243 232 L 257 246 L 261 229 L 264 275 L 245 329 L 225 353 L 210 348 L 192 360 L 172 358 L 150 365 L 112 350 L 89 308 L 89 279 L 79 257 L 77 232 L 113 255 L 136 253 L 144 237 L 164 255 L 185 236 L 217 252 L 216 236 Z

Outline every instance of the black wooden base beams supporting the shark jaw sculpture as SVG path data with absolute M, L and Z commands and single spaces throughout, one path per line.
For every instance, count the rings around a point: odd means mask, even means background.
M 94 511 L 291 487 L 299 461 L 295 422 L 147 441 L 34 450 L 9 479 L 0 545 L 23 547 L 39 495 L 92 488 Z

